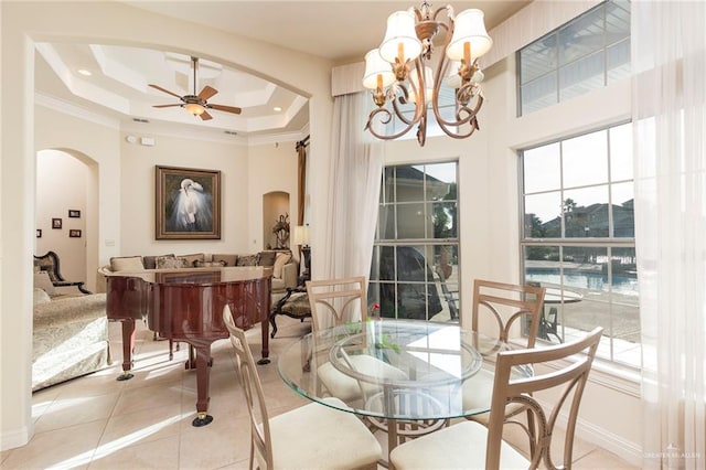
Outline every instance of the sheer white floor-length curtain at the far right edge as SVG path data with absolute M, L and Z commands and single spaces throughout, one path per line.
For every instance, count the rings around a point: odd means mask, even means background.
M 706 2 L 633 1 L 643 468 L 706 468 Z

